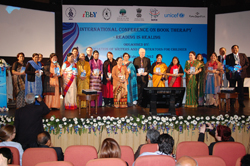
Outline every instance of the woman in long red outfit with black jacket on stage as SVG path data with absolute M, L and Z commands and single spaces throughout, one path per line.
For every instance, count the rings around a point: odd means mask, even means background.
M 112 69 L 117 64 L 113 58 L 113 53 L 107 53 L 107 60 L 103 64 L 103 89 L 105 107 L 114 105 Z

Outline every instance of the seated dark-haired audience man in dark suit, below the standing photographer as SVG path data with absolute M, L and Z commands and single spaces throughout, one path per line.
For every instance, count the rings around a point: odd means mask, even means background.
M 37 144 L 41 148 L 53 148 L 56 151 L 57 154 L 57 160 L 58 161 L 63 161 L 64 155 L 62 152 L 62 148 L 60 147 L 53 147 L 51 143 L 51 137 L 50 134 L 47 131 L 43 131 L 37 136 Z

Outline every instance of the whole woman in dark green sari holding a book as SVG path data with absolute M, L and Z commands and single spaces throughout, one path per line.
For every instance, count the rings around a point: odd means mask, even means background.
M 197 80 L 196 75 L 202 71 L 204 66 L 199 60 L 195 59 L 195 52 L 189 52 L 189 60 L 186 61 L 184 72 L 186 72 L 186 103 L 185 107 L 198 106 Z

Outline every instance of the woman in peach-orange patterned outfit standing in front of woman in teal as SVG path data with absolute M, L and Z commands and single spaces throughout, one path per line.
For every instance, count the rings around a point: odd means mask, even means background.
M 128 70 L 122 65 L 121 57 L 116 59 L 117 65 L 112 70 L 113 77 L 113 91 L 114 91 L 114 106 L 115 108 L 126 108 L 127 106 L 127 84 L 128 84 Z

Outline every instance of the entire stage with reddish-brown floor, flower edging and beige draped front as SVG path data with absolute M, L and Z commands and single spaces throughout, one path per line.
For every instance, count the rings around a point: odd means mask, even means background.
M 146 143 L 146 130 L 156 128 L 161 133 L 169 133 L 173 136 L 175 152 L 178 143 L 197 141 L 200 125 L 209 121 L 214 125 L 219 123 L 228 125 L 232 129 L 235 141 L 244 144 L 246 152 L 250 153 L 249 98 L 245 98 L 244 104 L 245 108 L 239 108 L 239 110 L 232 108 L 228 113 L 219 111 L 218 108 L 180 107 L 176 108 L 176 117 L 164 116 L 168 109 L 162 108 L 157 109 L 157 113 L 162 116 L 150 116 L 149 108 L 137 106 L 125 109 L 98 107 L 97 115 L 94 114 L 95 108 L 91 108 L 91 117 L 89 117 L 86 109 L 81 109 L 79 114 L 78 109 L 64 110 L 62 104 L 60 110 L 51 110 L 44 117 L 44 127 L 51 132 L 53 145 L 62 147 L 63 151 L 70 145 L 92 145 L 98 151 L 101 142 L 111 137 L 120 145 L 132 147 L 134 152 L 140 144 Z M 9 108 L 9 112 L 0 113 L 0 115 L 6 115 L 6 117 L 1 116 L 0 120 L 13 124 L 8 117 L 14 116 L 15 106 L 9 104 Z M 214 137 L 207 134 L 205 143 L 209 145 L 214 141 Z

